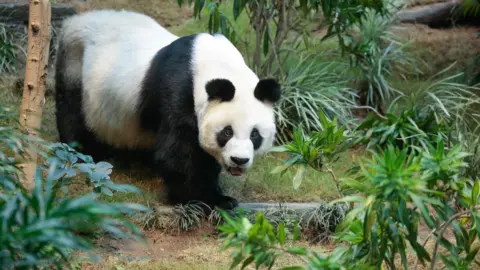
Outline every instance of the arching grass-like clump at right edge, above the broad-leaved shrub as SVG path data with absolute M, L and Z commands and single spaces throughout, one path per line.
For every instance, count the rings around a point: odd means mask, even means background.
M 355 143 L 376 149 L 393 144 L 418 151 L 425 148 L 427 142 L 435 142 L 437 134 L 459 142 L 480 125 L 475 112 L 480 105 L 477 93 L 480 89 L 455 82 L 460 75 L 434 77 L 418 89 L 412 89 L 411 94 L 397 97 L 385 116 L 370 113 L 356 128 Z

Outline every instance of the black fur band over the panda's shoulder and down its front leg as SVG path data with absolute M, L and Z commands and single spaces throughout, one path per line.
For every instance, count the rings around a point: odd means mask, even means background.
M 238 202 L 221 193 L 221 166 L 198 141 L 190 66 L 195 37 L 179 38 L 153 58 L 143 82 L 141 123 L 157 134 L 154 158 L 171 203 L 199 200 L 231 209 Z

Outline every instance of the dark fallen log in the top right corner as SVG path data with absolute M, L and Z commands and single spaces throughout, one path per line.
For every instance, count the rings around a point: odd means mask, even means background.
M 400 23 L 425 24 L 432 28 L 446 28 L 453 25 L 480 26 L 480 15 L 465 14 L 459 1 L 450 1 L 423 6 L 399 12 Z

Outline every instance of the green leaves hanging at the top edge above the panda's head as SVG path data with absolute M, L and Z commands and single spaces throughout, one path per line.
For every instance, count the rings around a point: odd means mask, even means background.
M 341 48 L 346 47 L 344 33 L 355 23 L 361 21 L 367 9 L 375 10 L 381 14 L 386 13 L 382 0 L 374 1 L 268 1 L 268 0 L 234 0 L 233 19 L 237 20 L 245 13 L 252 26 L 244 37 L 233 26 L 232 22 L 219 11 L 220 3 L 216 1 L 187 1 L 194 5 L 194 16 L 200 17 L 202 10 L 209 10 L 208 28 L 212 33 L 222 33 L 233 43 L 240 41 L 249 44 L 254 41 L 253 54 L 247 52 L 247 61 L 257 72 L 270 74 L 273 62 L 280 60 L 280 52 L 283 43 L 289 34 L 296 36 L 293 40 L 302 39 L 308 46 L 306 20 L 312 12 L 321 10 L 328 24 L 328 32 L 325 38 L 336 36 Z M 178 0 L 183 5 L 184 0 Z M 253 38 L 251 37 L 253 35 Z M 264 61 L 262 61 L 262 54 Z

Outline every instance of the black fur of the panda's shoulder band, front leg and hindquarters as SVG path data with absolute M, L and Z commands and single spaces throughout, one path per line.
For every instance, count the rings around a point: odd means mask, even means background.
M 218 185 L 221 166 L 198 141 L 190 67 L 195 37 L 179 38 L 158 51 L 151 62 L 143 81 L 139 110 L 141 127 L 155 132 L 158 143 L 151 154 L 143 153 L 142 157 L 155 163 L 167 186 L 170 203 L 202 201 L 211 207 L 232 209 L 238 205 L 237 200 L 223 195 Z M 118 155 L 117 149 L 99 142 L 86 128 L 81 110 L 82 86 L 65 80 L 64 54 L 60 45 L 56 66 L 60 140 L 79 141 L 84 145 L 84 153 L 92 154 L 96 160 L 105 158 L 105 154 Z

